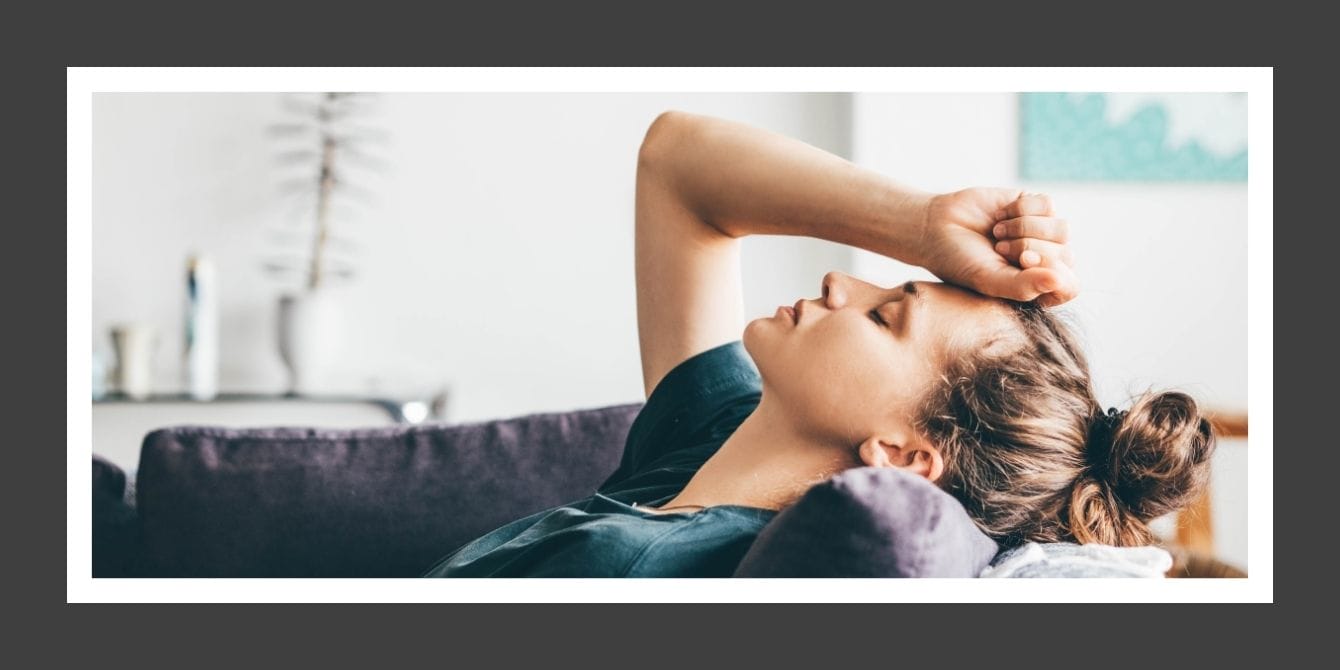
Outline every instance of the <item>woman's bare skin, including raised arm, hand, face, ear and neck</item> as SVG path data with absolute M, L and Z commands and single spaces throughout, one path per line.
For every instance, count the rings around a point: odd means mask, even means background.
M 961 347 L 1012 346 L 1000 299 L 1060 304 L 1079 283 L 1051 198 L 934 194 L 803 142 L 722 119 L 658 117 L 638 155 L 638 336 L 647 395 L 674 366 L 744 339 L 760 406 L 662 509 L 785 507 L 847 468 L 943 469 L 913 406 Z M 801 304 L 745 326 L 740 239 L 803 234 L 922 265 L 945 284 L 825 275 Z M 1000 243 L 1002 245 L 997 247 Z M 965 287 L 965 288 L 959 288 Z M 871 310 L 884 316 L 880 326 Z

